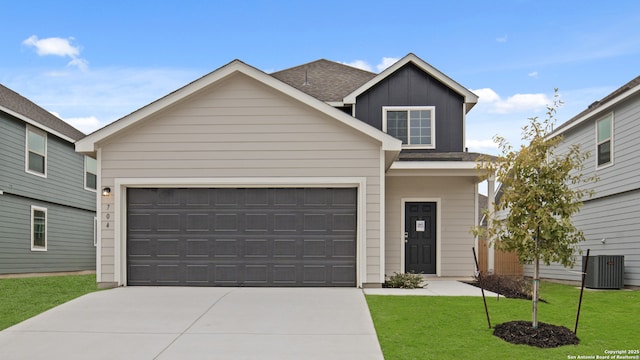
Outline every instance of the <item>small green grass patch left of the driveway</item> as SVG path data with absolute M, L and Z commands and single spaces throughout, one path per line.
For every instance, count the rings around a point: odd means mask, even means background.
M 95 275 L 0 279 L 0 330 L 96 290 Z

